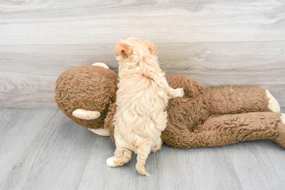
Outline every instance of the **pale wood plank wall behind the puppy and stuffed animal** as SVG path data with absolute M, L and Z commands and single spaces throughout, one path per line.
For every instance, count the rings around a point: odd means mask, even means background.
M 285 1 L 1 1 L 0 107 L 56 107 L 67 68 L 106 63 L 130 36 L 167 75 L 204 87 L 262 86 L 285 106 Z

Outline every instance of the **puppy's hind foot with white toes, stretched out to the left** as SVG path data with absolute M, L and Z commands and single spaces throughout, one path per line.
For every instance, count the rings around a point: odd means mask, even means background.
M 129 149 L 116 149 L 114 156 L 106 160 L 106 164 L 109 167 L 122 166 L 131 159 L 132 151 Z

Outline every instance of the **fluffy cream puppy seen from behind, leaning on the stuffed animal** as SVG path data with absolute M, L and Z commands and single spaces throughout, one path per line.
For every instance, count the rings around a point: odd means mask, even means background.
M 150 41 L 130 37 L 115 46 L 119 61 L 117 111 L 114 118 L 116 150 L 108 158 L 109 167 L 121 166 L 137 154 L 136 170 L 145 171 L 145 160 L 150 151 L 161 147 L 161 131 L 166 127 L 168 99 L 182 97 L 183 88 L 168 86 L 165 74 L 159 68 L 158 47 Z

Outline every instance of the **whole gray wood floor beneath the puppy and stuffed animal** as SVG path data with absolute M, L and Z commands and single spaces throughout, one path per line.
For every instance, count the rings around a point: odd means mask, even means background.
M 190 150 L 163 144 L 149 155 L 146 177 L 136 172 L 136 155 L 107 167 L 110 138 L 58 108 L 1 108 L 0 115 L 1 190 L 285 189 L 285 149 L 271 140 Z

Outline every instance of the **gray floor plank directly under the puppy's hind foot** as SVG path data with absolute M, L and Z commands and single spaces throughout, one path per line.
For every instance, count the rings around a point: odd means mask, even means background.
M 86 164 L 78 189 L 161 189 L 158 155 L 152 153 L 147 158 L 145 169 L 151 174 L 148 178 L 136 171 L 136 155 L 122 167 L 108 167 L 106 159 L 113 155 L 115 146 L 110 137 L 94 135 L 90 158 Z M 96 176 L 96 177 L 95 177 Z

